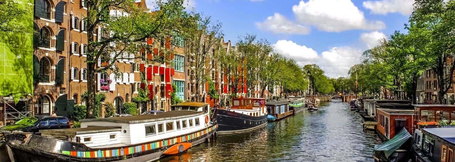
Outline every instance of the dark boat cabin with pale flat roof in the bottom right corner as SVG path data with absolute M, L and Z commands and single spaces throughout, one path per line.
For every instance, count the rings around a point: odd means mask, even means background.
M 416 162 L 455 162 L 455 128 L 422 129 L 416 136 Z

